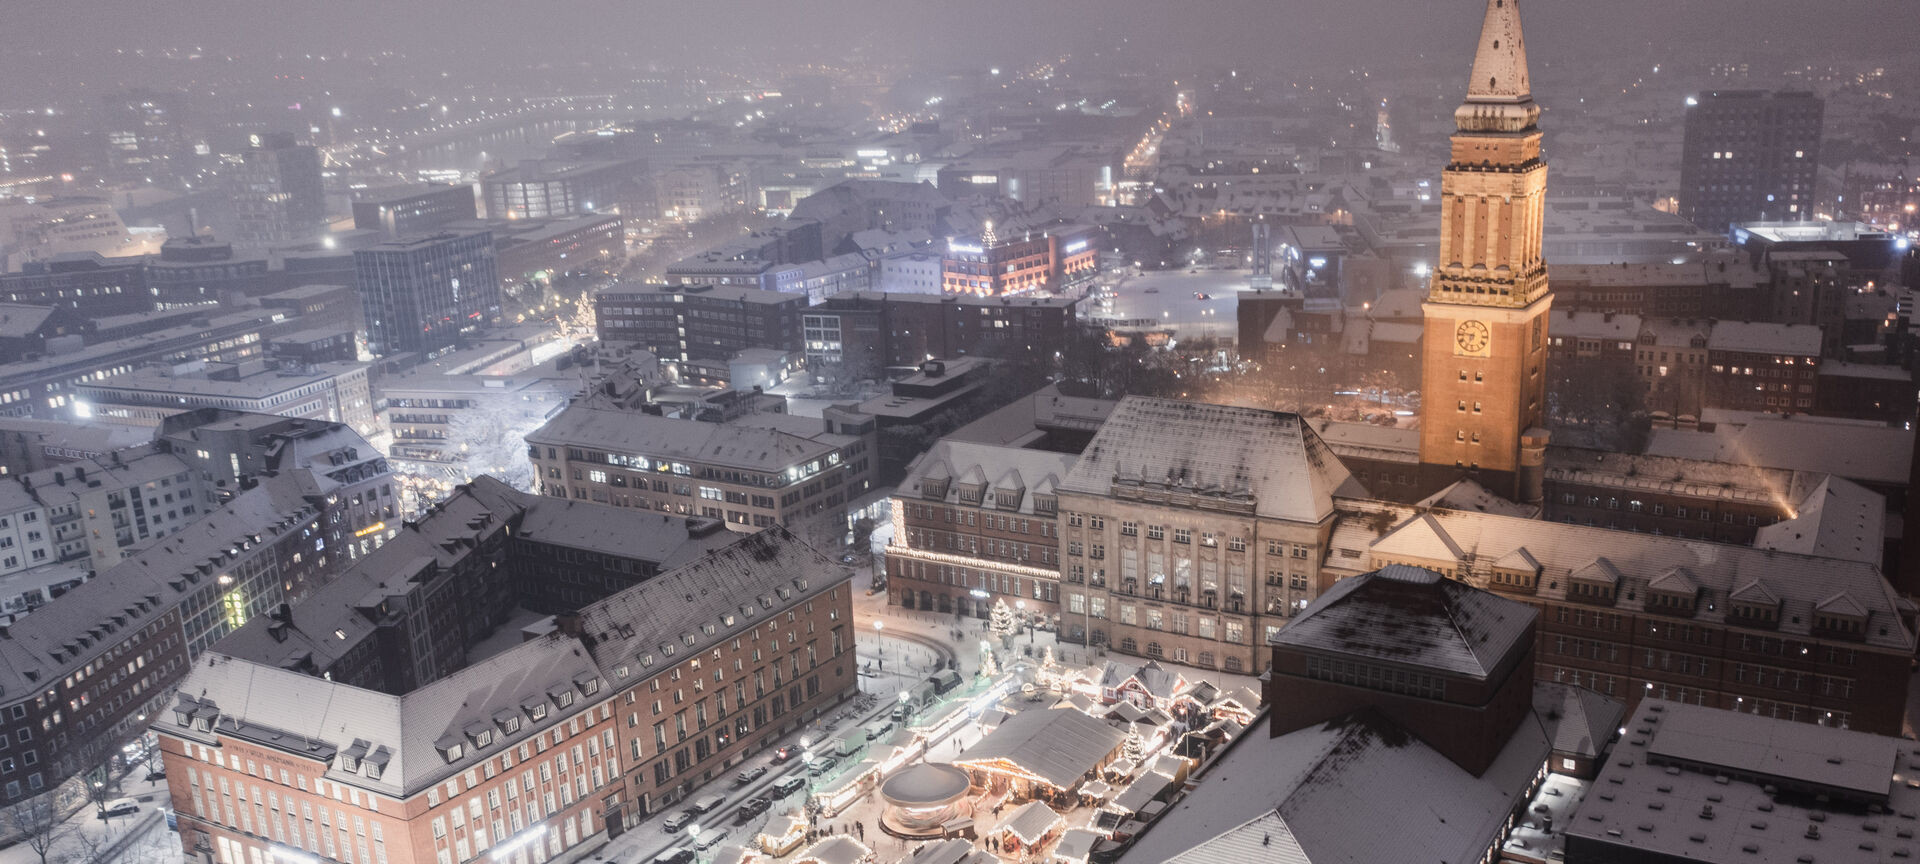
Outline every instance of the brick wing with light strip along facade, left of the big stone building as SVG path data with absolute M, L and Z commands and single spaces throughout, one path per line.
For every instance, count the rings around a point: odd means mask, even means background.
M 1060 622 L 1060 480 L 1075 457 L 943 440 L 893 499 L 887 603 L 985 618 L 996 601 Z M 1087 582 L 1085 561 L 1066 578 Z

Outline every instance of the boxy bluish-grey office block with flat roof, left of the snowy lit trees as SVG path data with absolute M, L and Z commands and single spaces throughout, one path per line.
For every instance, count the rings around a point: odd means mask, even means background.
M 499 317 L 492 230 L 449 230 L 353 252 L 372 353 L 436 351 Z

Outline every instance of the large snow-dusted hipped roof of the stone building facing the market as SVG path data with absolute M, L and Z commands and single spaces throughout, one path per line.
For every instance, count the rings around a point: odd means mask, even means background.
M 1336 492 L 1361 493 L 1300 415 L 1142 396 L 1114 407 L 1062 488 L 1102 497 L 1169 490 L 1292 522 L 1332 515 Z

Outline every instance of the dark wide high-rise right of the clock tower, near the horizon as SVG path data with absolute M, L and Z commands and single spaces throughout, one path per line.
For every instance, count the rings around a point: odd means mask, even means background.
M 1824 102 L 1811 92 L 1718 90 L 1688 98 L 1680 215 L 1734 223 L 1812 219 Z

